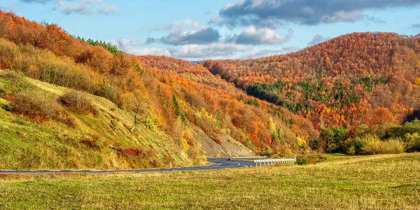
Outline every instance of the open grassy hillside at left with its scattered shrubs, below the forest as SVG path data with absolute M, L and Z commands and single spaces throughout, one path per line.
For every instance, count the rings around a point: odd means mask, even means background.
M 129 169 L 168 167 L 169 162 L 193 164 L 165 133 L 146 127 L 130 132 L 130 114 L 102 97 L 78 92 L 97 114 L 75 111 L 58 102 L 70 89 L 10 71 L 0 74 L 0 90 L 9 100 L 0 99 L 1 169 Z M 32 97 L 35 95 L 38 97 Z

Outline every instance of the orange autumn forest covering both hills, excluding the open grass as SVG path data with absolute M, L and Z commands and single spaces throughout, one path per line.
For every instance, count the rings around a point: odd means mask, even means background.
M 420 151 L 418 37 L 353 33 L 286 55 L 197 64 L 129 55 L 93 39 L 0 12 L 0 69 L 13 71 L 2 77 L 26 76 L 108 99 L 130 113 L 127 132 L 162 133 L 192 159 L 204 150 L 191 130 L 221 147 L 229 137 L 255 155 L 274 157 Z M 20 91 L 24 86 L 0 86 L 0 96 L 8 112 L 31 123 L 56 121 L 78 130 L 79 120 L 67 112 L 101 115 L 74 92 L 58 99 L 68 111 L 46 113 L 35 95 Z M 143 155 L 153 165 L 153 157 L 163 155 L 113 148 L 129 162 Z

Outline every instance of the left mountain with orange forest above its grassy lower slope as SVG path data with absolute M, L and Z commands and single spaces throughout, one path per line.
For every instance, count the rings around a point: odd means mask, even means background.
M 307 153 L 307 139 L 317 136 L 309 120 L 248 96 L 200 64 L 130 56 L 13 13 L 0 12 L 0 20 L 7 122 L 0 153 L 8 157 L 0 168 L 200 165 L 204 152 L 290 156 Z

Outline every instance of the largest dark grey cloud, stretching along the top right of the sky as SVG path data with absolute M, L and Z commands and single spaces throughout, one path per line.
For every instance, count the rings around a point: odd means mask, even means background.
M 414 6 L 420 0 L 242 0 L 224 6 L 218 18 L 210 22 L 218 25 L 265 25 L 279 22 L 316 25 L 331 22 L 363 20 L 363 10 Z

